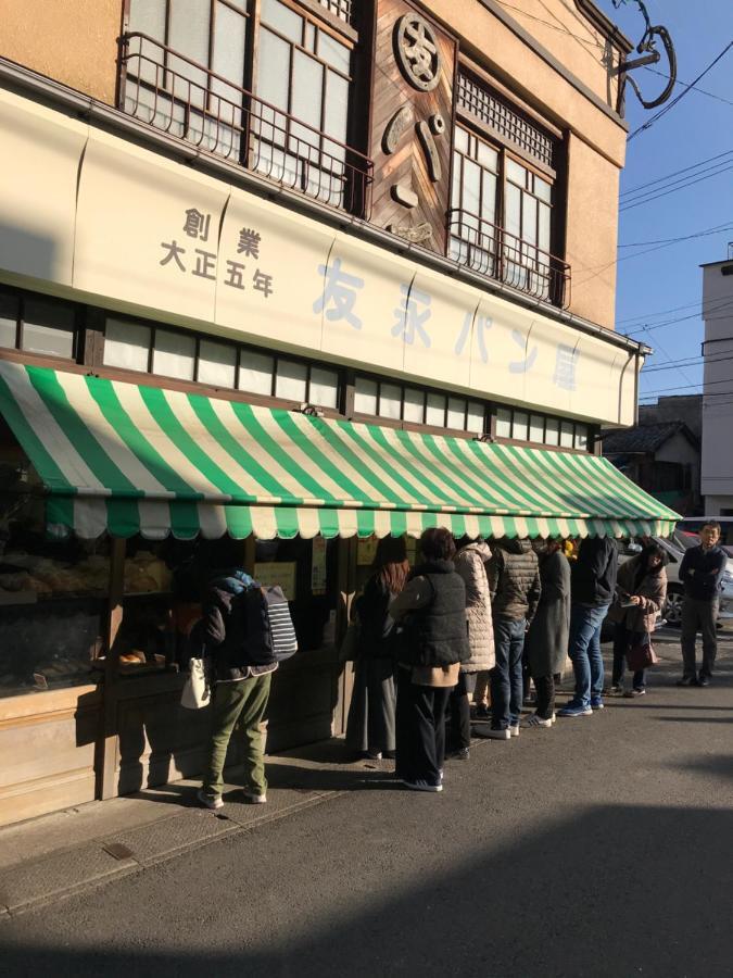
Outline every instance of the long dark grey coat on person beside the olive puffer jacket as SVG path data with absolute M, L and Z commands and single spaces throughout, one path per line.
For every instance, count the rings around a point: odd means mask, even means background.
M 525 640 L 530 674 L 538 679 L 560 673 L 568 653 L 570 630 L 570 564 L 564 553 L 540 561 L 542 595 Z

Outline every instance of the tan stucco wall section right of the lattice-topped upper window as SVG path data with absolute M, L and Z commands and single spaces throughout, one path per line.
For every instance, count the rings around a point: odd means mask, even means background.
M 572 268 L 570 309 L 601 326 L 614 327 L 618 167 L 583 139 L 568 138 L 566 260 Z

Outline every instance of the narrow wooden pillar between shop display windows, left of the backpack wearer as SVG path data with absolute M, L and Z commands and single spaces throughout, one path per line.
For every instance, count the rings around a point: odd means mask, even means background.
M 102 689 L 101 723 L 94 764 L 98 799 L 108 799 L 115 795 L 115 773 L 118 752 L 117 689 L 119 681 L 119 649 L 115 640 L 123 619 L 126 552 L 126 540 L 121 537 L 112 537 L 110 546 L 110 606 L 103 629 L 106 648 L 104 686 Z

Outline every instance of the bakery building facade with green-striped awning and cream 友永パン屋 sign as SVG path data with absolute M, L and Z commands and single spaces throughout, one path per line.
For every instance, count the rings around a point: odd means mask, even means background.
M 277 749 L 344 728 L 379 536 L 673 519 L 596 453 L 631 46 L 534 7 L 4 0 L 0 824 L 199 769 L 215 567 L 292 601 Z

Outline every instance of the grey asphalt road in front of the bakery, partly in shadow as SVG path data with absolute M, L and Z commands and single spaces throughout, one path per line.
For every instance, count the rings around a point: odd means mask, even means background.
M 0 973 L 730 978 L 733 648 L 677 689 L 671 638 L 645 698 L 481 741 L 442 795 L 324 773 L 346 792 L 7 920 Z

